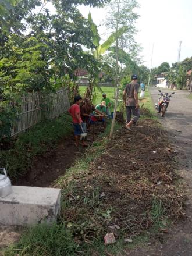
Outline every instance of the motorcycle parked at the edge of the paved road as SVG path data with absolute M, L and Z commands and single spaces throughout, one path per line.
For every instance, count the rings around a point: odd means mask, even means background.
M 161 113 L 161 116 L 163 117 L 165 115 L 166 109 L 169 106 L 170 97 L 173 97 L 172 95 L 175 94 L 175 91 L 172 94 L 169 93 L 162 93 L 161 90 L 158 90 L 160 95 L 158 99 L 158 103 L 155 103 L 155 108 L 159 113 Z

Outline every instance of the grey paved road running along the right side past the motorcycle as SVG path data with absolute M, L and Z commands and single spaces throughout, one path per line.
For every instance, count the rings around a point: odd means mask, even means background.
M 151 88 L 150 93 L 155 105 L 159 97 L 158 89 Z M 168 130 L 170 142 L 178 150 L 177 157 L 181 163 L 179 173 L 189 189 L 187 218 L 173 225 L 162 242 L 152 241 L 148 248 L 140 248 L 129 256 L 192 256 L 192 101 L 187 98 L 187 93 L 176 91 L 165 117 L 159 115 L 159 120 Z

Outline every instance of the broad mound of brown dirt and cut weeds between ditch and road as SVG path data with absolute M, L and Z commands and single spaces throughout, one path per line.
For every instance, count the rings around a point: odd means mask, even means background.
M 185 195 L 176 184 L 175 153 L 168 145 L 164 130 L 142 120 L 133 132 L 116 131 L 88 172 L 62 180 L 62 218 L 74 226 L 74 236 L 84 241 L 106 232 L 133 236 L 183 216 Z

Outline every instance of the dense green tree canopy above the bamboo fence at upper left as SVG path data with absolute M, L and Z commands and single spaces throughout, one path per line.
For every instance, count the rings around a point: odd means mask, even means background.
M 0 25 L 5 22 L 8 28 L 0 26 L 1 91 L 53 90 L 54 79 L 69 74 L 74 80 L 78 68 L 86 67 L 90 74 L 99 72 L 101 63 L 82 49 L 82 45 L 95 48 L 94 34 L 77 5 L 102 6 L 108 1 L 52 2 L 54 15 L 40 0 L 15 1 L 12 9 L 3 3 L 6 15 Z M 38 6 L 40 12 L 34 12 Z M 28 33 L 23 33 L 26 29 Z

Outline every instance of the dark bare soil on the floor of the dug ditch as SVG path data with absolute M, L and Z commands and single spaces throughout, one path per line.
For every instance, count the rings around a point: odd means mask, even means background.
M 98 134 L 103 131 L 101 125 L 91 126 L 86 143 L 88 145 L 92 144 Z M 63 138 L 55 150 L 49 149 L 45 155 L 37 157 L 26 175 L 12 180 L 12 184 L 16 186 L 49 187 L 54 180 L 64 175 L 66 169 L 70 168 L 77 158 L 82 157 L 84 152 L 85 148 L 77 148 L 74 145 L 72 133 L 69 137 Z

